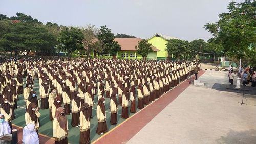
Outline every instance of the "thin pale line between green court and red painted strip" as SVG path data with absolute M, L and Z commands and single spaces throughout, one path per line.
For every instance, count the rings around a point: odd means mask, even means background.
M 193 75 L 195 75 L 195 74 L 193 74 Z M 191 75 L 190 77 L 192 77 L 193 75 Z M 170 89 L 169 91 L 171 91 L 171 90 L 177 88 L 180 84 L 186 82 L 190 77 L 188 77 L 186 80 L 184 80 L 183 82 L 179 83 L 177 86 L 175 86 L 174 88 Z M 159 98 L 164 97 L 169 91 L 165 92 L 165 93 L 164 93 L 163 95 L 161 95 L 161 97 L 159 97 Z M 152 101 L 150 104 L 148 104 L 148 105 L 145 106 L 145 107 L 150 106 L 151 104 L 153 104 L 154 102 L 156 102 L 157 100 L 159 100 L 159 98 L 156 99 L 155 101 Z M 144 107 L 144 108 L 145 108 L 145 107 Z M 144 109 L 144 108 L 143 108 L 143 109 Z M 101 137 L 99 137 L 98 139 L 96 139 L 95 141 L 93 141 L 92 144 L 94 144 L 94 143 L 96 143 L 97 141 L 99 141 L 101 138 L 103 138 L 104 136 L 106 136 L 107 134 L 109 134 L 110 132 L 112 132 L 113 130 L 115 130 L 116 128 L 118 128 L 119 126 L 121 126 L 124 122 L 128 121 L 130 118 L 132 118 L 132 117 L 135 116 L 136 114 L 140 113 L 143 109 L 139 110 L 138 112 L 136 112 L 135 114 L 133 114 L 131 117 L 125 119 L 122 123 L 120 123 L 119 125 L 117 125 L 117 126 L 114 127 L 113 129 L 111 129 L 110 131 L 104 133 Z

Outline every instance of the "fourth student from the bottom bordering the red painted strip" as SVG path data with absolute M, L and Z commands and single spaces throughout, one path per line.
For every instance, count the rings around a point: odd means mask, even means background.
M 122 93 L 122 118 L 127 119 L 129 117 L 129 113 L 128 113 L 128 99 L 129 99 L 129 88 L 125 87 L 123 89 L 123 93 Z

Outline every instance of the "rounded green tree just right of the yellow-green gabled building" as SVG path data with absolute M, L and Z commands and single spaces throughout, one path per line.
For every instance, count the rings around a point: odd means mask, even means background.
M 188 49 L 190 44 L 188 41 L 180 40 L 180 39 L 170 39 L 166 44 L 166 51 L 169 54 L 173 54 L 173 57 L 180 60 L 183 56 L 187 56 L 190 54 L 190 50 Z

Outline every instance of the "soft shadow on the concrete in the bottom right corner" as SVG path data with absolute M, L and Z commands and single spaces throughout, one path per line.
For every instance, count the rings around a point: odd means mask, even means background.
M 216 140 L 217 143 L 255 143 L 256 131 L 234 131 L 230 130 L 226 136 L 221 136 L 220 139 Z

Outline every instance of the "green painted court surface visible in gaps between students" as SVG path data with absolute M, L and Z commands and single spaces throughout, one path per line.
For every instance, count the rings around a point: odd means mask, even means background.
M 25 79 L 24 79 L 24 82 L 25 82 Z M 25 85 L 24 85 L 24 87 L 25 87 Z M 39 102 L 41 102 L 40 97 L 39 97 L 39 83 L 38 83 L 37 78 L 35 78 L 33 90 L 36 92 Z M 102 135 L 98 135 L 96 133 L 97 125 L 98 125 L 98 120 L 97 120 L 97 115 L 96 115 L 98 97 L 96 96 L 94 98 L 94 100 L 95 100 L 95 104 L 93 106 L 93 118 L 91 119 L 91 127 L 90 127 L 91 142 L 95 141 L 100 136 L 102 136 Z M 15 118 L 16 119 L 14 119 L 12 121 L 12 124 L 15 124 L 20 127 L 24 127 L 24 126 L 26 126 L 26 124 L 25 124 L 25 102 L 24 102 L 23 94 L 19 95 L 19 100 L 17 101 L 17 106 L 18 106 L 18 108 L 15 110 Z M 108 124 L 108 131 L 110 131 L 111 129 L 113 129 L 114 127 L 116 127 L 117 125 L 119 125 L 120 123 L 125 121 L 125 119 L 121 118 L 122 107 L 118 105 L 118 114 L 117 114 L 117 123 L 118 124 L 111 125 L 110 124 L 111 113 L 110 113 L 110 109 L 109 109 L 109 106 L 110 106 L 109 98 L 107 98 L 105 100 L 105 106 L 106 106 L 106 111 L 107 111 L 106 118 L 107 118 L 107 124 Z M 137 106 L 137 99 L 136 99 L 136 106 Z M 63 105 L 62 105 L 62 107 L 63 107 Z M 137 109 L 137 112 L 138 111 L 139 111 L 139 109 Z M 49 137 L 52 137 L 52 121 L 49 120 L 49 109 L 44 109 L 44 110 L 40 109 L 39 112 L 41 113 L 39 133 L 47 135 Z M 130 108 L 129 108 L 129 116 L 132 116 L 133 114 L 134 113 L 130 113 Z M 80 134 L 79 127 L 77 127 L 77 128 L 71 127 L 71 116 L 72 116 L 72 114 L 67 116 L 68 123 L 69 123 L 68 142 L 69 143 L 79 143 L 79 134 Z

